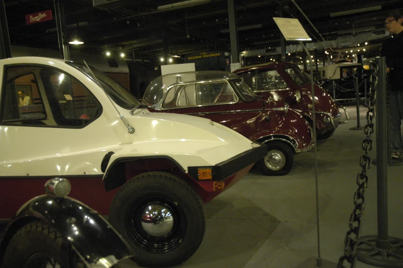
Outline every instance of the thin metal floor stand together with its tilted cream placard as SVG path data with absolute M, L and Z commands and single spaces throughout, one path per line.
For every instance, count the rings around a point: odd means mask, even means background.
M 273 17 L 274 22 L 276 22 L 281 33 L 286 41 L 298 41 L 302 48 L 304 49 L 307 58 L 310 59 L 310 55 L 302 41 L 312 41 L 309 35 L 306 33 L 305 29 L 302 27 L 301 23 L 297 19 L 288 19 L 285 17 Z M 320 257 L 320 232 L 319 232 L 319 192 L 318 192 L 318 161 L 316 157 L 316 116 L 315 116 L 315 93 L 314 93 L 314 70 L 312 66 L 312 61 L 309 61 L 310 65 L 310 85 L 312 94 L 312 112 L 313 112 L 313 131 L 314 131 L 314 150 L 315 150 L 315 188 L 316 188 L 316 226 L 317 226 L 317 237 L 318 237 L 318 258 L 316 259 L 316 266 L 322 267 L 322 259 Z

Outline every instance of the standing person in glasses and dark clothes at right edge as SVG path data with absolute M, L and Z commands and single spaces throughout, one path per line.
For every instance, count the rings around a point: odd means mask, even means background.
M 393 158 L 403 158 L 403 15 L 400 11 L 390 12 L 385 19 L 388 32 L 392 33 L 382 43 L 381 56 L 386 57 L 389 88 L 390 146 Z

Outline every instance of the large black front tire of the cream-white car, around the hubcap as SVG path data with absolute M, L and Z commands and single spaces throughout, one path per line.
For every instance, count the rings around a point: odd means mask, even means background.
M 141 225 L 143 208 L 155 202 L 168 207 L 174 219 L 171 231 L 163 236 L 153 236 Z M 134 249 L 132 260 L 145 267 L 173 266 L 189 259 L 203 240 L 206 218 L 195 189 L 161 171 L 142 173 L 126 182 L 109 211 L 109 222 Z

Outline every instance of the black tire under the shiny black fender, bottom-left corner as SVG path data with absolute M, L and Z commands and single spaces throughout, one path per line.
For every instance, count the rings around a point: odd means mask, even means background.
M 56 261 L 65 268 L 86 267 L 58 230 L 45 222 L 34 221 L 21 227 L 12 237 L 2 267 L 45 267 L 49 261 Z

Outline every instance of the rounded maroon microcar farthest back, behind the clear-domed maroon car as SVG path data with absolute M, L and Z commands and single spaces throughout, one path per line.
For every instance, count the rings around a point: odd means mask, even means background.
M 253 92 L 265 99 L 284 101 L 289 108 L 300 113 L 313 127 L 311 82 L 298 65 L 285 62 L 264 63 L 247 66 L 233 72 L 249 85 Z M 333 135 L 340 123 L 349 119 L 343 106 L 338 107 L 332 97 L 314 84 L 315 118 L 318 139 Z M 346 120 L 341 120 L 344 110 Z

